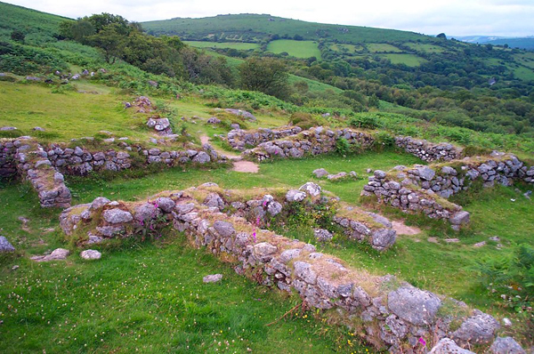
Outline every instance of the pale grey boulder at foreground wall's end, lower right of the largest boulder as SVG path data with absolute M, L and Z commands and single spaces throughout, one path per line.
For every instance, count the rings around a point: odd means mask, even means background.
M 489 343 L 495 338 L 499 327 L 497 319 L 480 310 L 474 310 L 473 316 L 462 323 L 452 334 L 452 338 L 460 344 Z

